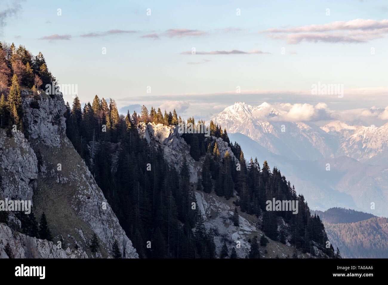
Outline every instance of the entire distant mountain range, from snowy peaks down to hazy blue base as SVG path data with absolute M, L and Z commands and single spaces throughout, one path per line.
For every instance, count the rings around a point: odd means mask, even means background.
M 388 216 L 388 123 L 280 121 L 284 111 L 235 103 L 212 120 L 226 128 L 246 159 L 277 166 L 314 210 L 346 207 Z M 374 209 L 371 203 L 374 203 Z

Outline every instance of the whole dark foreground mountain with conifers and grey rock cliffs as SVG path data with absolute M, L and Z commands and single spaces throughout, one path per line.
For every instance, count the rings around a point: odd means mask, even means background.
M 144 105 L 120 116 L 97 95 L 83 107 L 75 95 L 70 107 L 40 89 L 56 84 L 41 53 L 5 48 L 0 257 L 335 257 L 303 195 L 279 169 L 246 161 L 221 128 L 182 133 L 194 118 Z M 15 63 L 28 76 L 9 77 Z M 253 111 L 277 115 L 266 105 Z M 31 207 L 15 208 L 21 200 Z

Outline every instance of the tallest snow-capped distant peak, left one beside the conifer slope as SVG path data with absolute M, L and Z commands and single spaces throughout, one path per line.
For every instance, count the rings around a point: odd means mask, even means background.
M 281 121 L 283 113 L 268 103 L 252 107 L 237 102 L 211 120 L 228 133 L 242 133 L 289 159 L 317 160 L 334 155 L 337 144 L 332 136 L 311 123 Z

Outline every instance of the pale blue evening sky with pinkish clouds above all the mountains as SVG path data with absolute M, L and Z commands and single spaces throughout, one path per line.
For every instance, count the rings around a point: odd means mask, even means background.
M 333 119 L 388 121 L 386 1 L 0 0 L 0 40 L 41 51 L 81 102 L 113 98 L 121 113 L 206 120 L 268 102 L 303 120 L 322 119 L 305 114 L 319 104 Z

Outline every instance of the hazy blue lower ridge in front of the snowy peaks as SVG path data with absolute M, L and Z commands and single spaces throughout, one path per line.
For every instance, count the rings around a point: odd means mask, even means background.
M 369 165 L 350 157 L 341 156 L 317 161 L 292 160 L 276 155 L 240 133 L 229 133 L 232 142 L 239 142 L 247 158 L 257 157 L 260 162 L 281 169 L 282 174 L 302 193 L 314 210 L 346 207 L 388 216 L 388 166 Z M 327 171 L 326 164 L 330 164 Z M 371 209 L 371 202 L 375 209 Z

